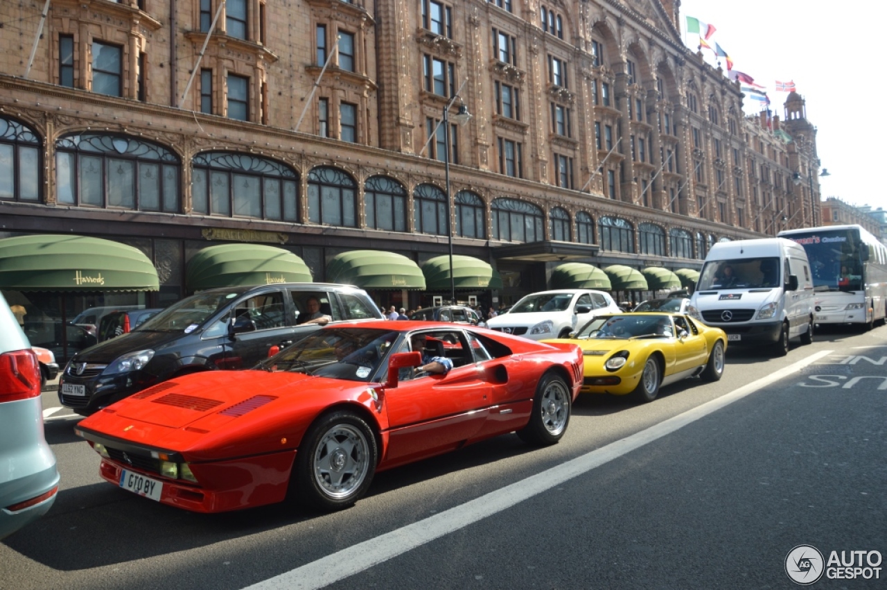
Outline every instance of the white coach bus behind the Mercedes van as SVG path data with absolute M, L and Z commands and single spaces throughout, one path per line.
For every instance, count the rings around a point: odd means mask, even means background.
M 780 232 L 810 259 L 818 324 L 869 329 L 887 315 L 887 247 L 861 225 L 827 225 Z

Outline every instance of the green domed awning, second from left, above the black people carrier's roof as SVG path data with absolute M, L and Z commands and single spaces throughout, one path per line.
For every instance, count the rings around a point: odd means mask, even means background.
M 184 284 L 189 291 L 312 280 L 302 258 L 283 248 L 259 244 L 203 248 L 188 261 L 184 272 Z

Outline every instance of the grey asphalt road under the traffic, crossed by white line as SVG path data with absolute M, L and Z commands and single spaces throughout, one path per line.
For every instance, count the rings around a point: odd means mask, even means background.
M 101 480 L 54 412 L 59 499 L 0 541 L 0 588 L 790 588 L 800 545 L 822 555 L 814 588 L 885 587 L 885 365 L 887 327 L 780 359 L 731 348 L 718 383 L 580 397 L 561 444 L 508 435 L 382 473 L 333 515 L 161 506 Z M 834 578 L 833 551 L 858 578 Z

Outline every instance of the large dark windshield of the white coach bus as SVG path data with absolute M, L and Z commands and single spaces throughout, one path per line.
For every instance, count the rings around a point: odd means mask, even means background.
M 862 242 L 852 229 L 792 232 L 785 235 L 797 241 L 807 252 L 813 289 L 822 291 L 858 291 L 864 284 Z

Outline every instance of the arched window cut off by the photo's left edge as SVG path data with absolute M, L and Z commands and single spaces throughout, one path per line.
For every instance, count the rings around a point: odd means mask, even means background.
M 0 117 L 0 199 L 40 201 L 40 139 L 20 122 Z

